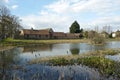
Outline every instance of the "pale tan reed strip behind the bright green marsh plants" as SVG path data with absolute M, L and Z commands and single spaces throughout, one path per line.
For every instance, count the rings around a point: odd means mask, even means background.
M 36 64 L 41 62 L 47 62 L 51 59 L 59 59 L 59 58 L 65 58 L 67 60 L 81 58 L 81 57 L 88 57 L 88 56 L 101 56 L 104 57 L 105 55 L 116 55 L 120 53 L 120 49 L 107 49 L 107 50 L 98 50 L 93 52 L 88 52 L 80 55 L 63 55 L 63 56 L 56 56 L 56 57 L 43 57 L 43 58 L 37 58 L 33 59 L 29 62 L 29 64 Z

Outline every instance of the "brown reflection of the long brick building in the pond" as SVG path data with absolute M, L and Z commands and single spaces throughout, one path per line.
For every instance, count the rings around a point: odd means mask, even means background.
M 52 47 L 52 44 L 43 44 L 39 46 L 24 46 L 23 52 L 51 51 Z

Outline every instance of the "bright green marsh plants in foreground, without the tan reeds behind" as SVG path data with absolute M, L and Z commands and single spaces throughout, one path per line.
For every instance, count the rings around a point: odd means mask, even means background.
M 57 58 L 51 59 L 48 61 L 50 65 L 53 66 L 65 66 L 65 65 L 85 65 L 90 68 L 98 69 L 98 71 L 104 76 L 117 76 L 120 77 L 120 70 L 117 68 L 120 67 L 120 63 L 106 59 L 104 57 L 79 57 L 76 59 L 65 59 Z

